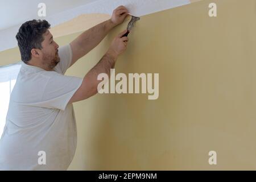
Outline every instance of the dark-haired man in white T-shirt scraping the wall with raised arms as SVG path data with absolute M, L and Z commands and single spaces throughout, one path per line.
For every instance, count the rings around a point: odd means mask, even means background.
M 16 35 L 22 67 L 10 97 L 6 125 L 0 140 L 1 170 L 66 170 L 76 150 L 73 102 L 97 93 L 100 73 L 110 75 L 128 38 L 119 34 L 108 52 L 85 77 L 65 71 L 96 47 L 123 22 L 128 11 L 119 6 L 111 19 L 82 33 L 59 48 L 46 20 L 31 20 Z M 59 48 L 59 49 L 58 49 Z M 44 159 L 45 158 L 45 159 Z

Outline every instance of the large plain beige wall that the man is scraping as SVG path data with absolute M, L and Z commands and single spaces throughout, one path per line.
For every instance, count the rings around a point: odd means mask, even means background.
M 208 16 L 210 2 L 217 18 Z M 206 0 L 142 16 L 116 72 L 159 73 L 159 98 L 98 94 L 74 104 L 78 143 L 69 169 L 256 169 L 255 7 Z M 83 77 L 125 27 L 67 74 Z M 211 150 L 216 166 L 208 164 Z

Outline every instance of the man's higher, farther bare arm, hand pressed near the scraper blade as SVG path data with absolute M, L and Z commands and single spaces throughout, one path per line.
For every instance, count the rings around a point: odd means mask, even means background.
M 70 44 L 73 54 L 71 65 L 96 47 L 113 27 L 125 20 L 127 15 L 128 10 L 124 6 L 119 6 L 113 11 L 111 19 L 97 24 L 73 40 Z

